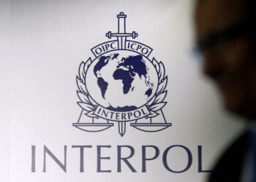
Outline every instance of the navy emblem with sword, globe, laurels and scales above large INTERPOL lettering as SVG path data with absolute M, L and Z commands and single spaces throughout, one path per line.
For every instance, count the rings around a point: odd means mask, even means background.
M 94 59 L 80 63 L 77 76 L 78 105 L 82 108 L 74 127 L 99 132 L 118 123 L 121 136 L 130 126 L 144 132 L 158 132 L 170 127 L 162 108 L 166 105 L 167 76 L 165 66 L 148 56 L 152 49 L 127 38 L 138 33 L 126 32 L 126 17 L 120 12 L 118 33 L 106 36 L 107 41 L 91 49 Z

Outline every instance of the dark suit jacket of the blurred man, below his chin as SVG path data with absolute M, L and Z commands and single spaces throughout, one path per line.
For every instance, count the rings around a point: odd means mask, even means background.
M 233 143 L 214 167 L 209 182 L 239 182 L 241 180 L 244 157 L 249 144 L 249 132 L 244 132 Z

